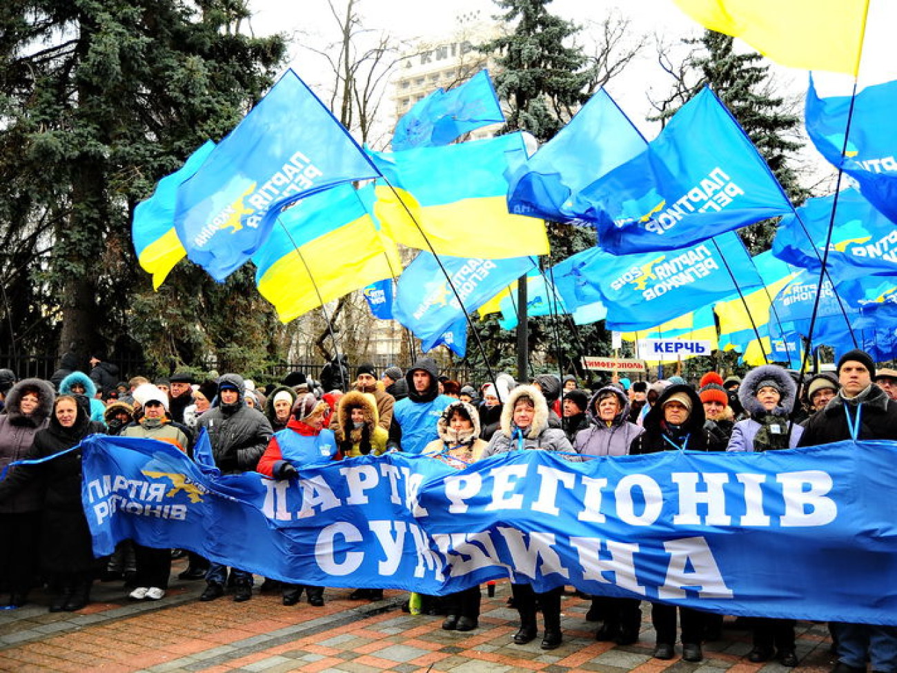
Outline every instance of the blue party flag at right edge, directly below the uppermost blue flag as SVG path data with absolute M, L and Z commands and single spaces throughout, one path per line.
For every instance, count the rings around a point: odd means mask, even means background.
M 833 195 L 811 198 L 797 208 L 796 215 L 783 217 L 772 254 L 818 273 L 834 201 Z M 862 275 L 897 273 L 897 228 L 856 189 L 838 195 L 827 268 L 837 285 Z

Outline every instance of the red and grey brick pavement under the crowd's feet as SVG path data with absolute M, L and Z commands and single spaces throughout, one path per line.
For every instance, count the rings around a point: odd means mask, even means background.
M 183 569 L 176 562 L 175 573 Z M 120 582 L 95 585 L 92 603 L 78 613 L 48 613 L 47 599 L 0 611 L 0 670 L 35 671 L 604 671 L 622 673 L 785 673 L 779 664 L 744 659 L 750 634 L 730 628 L 724 640 L 704 647 L 700 664 L 650 656 L 654 633 L 645 620 L 639 642 L 626 647 L 596 642 L 596 625 L 585 620 L 588 601 L 565 596 L 564 643 L 554 651 L 511 642 L 517 613 L 506 607 L 509 585 L 494 598 L 483 590 L 480 628 L 442 631 L 442 617 L 411 616 L 399 608 L 402 592 L 387 591 L 376 603 L 348 600 L 349 590 L 328 589 L 324 607 L 304 600 L 284 607 L 280 595 L 256 595 L 246 603 L 230 596 L 200 603 L 205 582 L 174 581 L 165 599 L 131 602 Z M 541 627 L 541 617 L 540 617 Z M 798 671 L 832 666 L 825 625 L 798 623 Z

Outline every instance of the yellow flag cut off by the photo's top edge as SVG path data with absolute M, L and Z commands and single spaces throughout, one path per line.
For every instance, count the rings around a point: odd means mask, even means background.
M 868 0 L 673 0 L 783 66 L 857 75 Z

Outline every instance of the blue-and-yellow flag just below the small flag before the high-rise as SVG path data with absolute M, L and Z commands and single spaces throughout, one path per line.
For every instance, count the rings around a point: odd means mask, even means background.
M 396 242 L 459 258 L 548 253 L 545 223 L 508 212 L 505 172 L 526 159 L 521 134 L 371 155 L 392 186 L 378 180 L 374 214 Z

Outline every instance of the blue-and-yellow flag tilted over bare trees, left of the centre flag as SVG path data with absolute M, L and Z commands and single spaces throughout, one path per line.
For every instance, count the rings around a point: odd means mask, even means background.
M 258 292 L 283 322 L 402 269 L 396 244 L 349 183 L 283 211 L 252 260 Z

